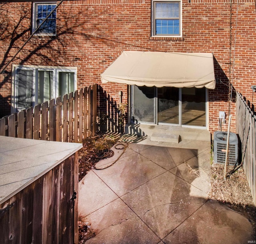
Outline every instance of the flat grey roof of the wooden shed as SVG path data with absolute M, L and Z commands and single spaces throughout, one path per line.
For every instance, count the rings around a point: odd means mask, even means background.
M 80 143 L 0 136 L 0 204 L 74 154 Z

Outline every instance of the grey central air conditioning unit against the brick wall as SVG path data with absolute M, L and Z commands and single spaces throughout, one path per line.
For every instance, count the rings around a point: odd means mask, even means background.
M 225 164 L 226 149 L 227 149 L 228 132 L 216 131 L 214 132 L 214 162 L 218 164 Z M 238 164 L 238 137 L 235 133 L 230 132 L 228 143 L 228 164 Z

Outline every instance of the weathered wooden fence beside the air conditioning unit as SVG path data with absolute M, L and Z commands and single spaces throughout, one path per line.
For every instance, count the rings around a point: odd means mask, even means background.
M 256 116 L 246 100 L 236 94 L 236 133 L 241 140 L 242 164 L 256 204 Z

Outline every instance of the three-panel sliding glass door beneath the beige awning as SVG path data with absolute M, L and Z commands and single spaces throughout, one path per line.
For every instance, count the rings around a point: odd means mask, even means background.
M 206 88 L 132 86 L 132 122 L 206 127 Z

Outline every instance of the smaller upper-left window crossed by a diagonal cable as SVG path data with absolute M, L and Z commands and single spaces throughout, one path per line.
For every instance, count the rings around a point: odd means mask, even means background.
M 56 35 L 56 3 L 34 3 L 33 32 L 47 18 L 36 32 L 37 35 Z M 54 11 L 53 11 L 54 10 Z M 53 12 L 52 12 L 53 11 Z

